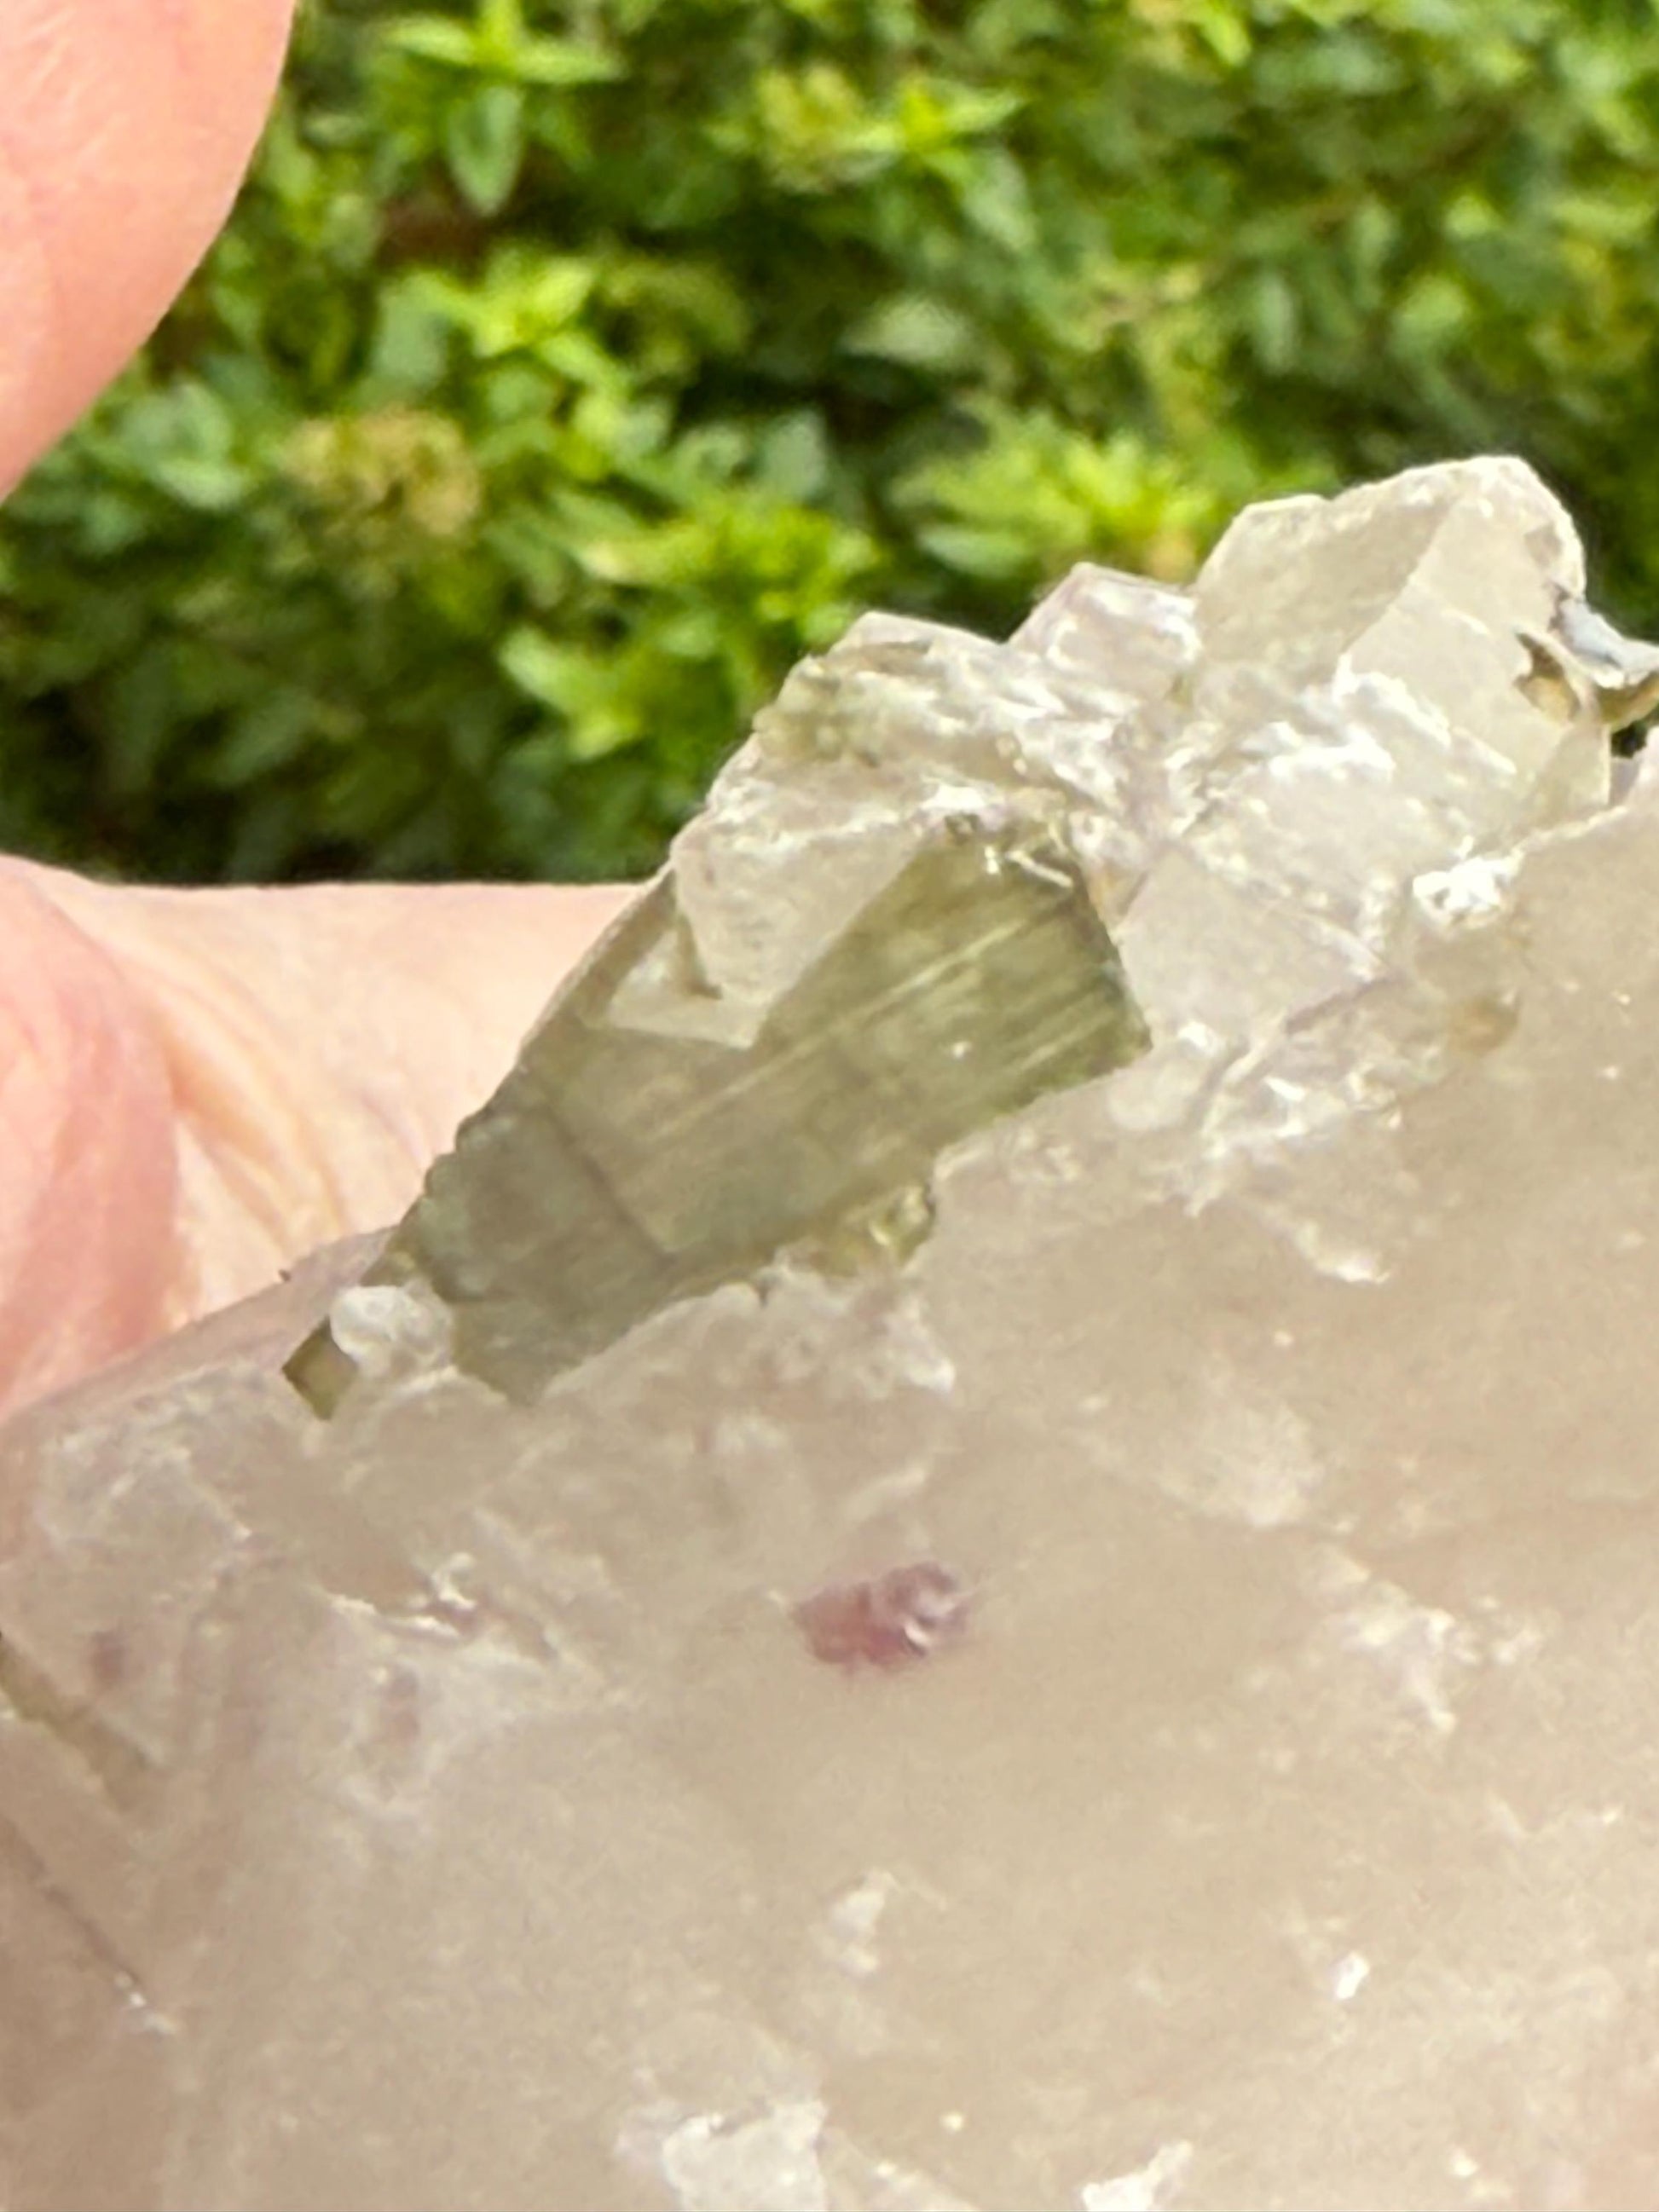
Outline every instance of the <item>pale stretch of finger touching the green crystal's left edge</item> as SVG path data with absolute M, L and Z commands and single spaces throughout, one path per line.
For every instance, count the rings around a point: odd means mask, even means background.
M 170 891 L 11 867 L 104 956 L 128 1022 L 159 1057 L 175 1225 L 144 1334 L 241 1298 L 334 1237 L 394 1221 L 630 896 L 557 885 Z M 104 1203 L 119 1212 L 124 1199 L 115 1190 Z M 119 1221 L 100 1250 L 106 1265 L 137 1263 Z

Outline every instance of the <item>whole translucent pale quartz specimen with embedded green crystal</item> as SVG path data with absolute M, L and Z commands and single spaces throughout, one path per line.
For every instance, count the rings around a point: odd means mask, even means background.
M 865 617 L 378 1259 L 0 1433 L 9 2212 L 1659 2201 L 1584 591 L 1475 460 Z

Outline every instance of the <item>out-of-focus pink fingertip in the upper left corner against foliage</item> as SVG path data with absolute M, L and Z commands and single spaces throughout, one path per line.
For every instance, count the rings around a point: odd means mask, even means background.
M 0 493 L 210 246 L 290 13 L 292 0 L 0 7 Z

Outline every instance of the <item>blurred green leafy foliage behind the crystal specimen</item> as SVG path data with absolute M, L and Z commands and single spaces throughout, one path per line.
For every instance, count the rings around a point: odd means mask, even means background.
M 1652 0 L 316 0 L 0 518 L 0 843 L 646 869 L 878 602 L 1524 451 L 1655 626 Z

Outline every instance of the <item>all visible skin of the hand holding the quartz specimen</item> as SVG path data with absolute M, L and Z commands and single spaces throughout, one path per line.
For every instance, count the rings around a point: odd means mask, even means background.
M 0 9 L 0 489 L 210 246 L 290 15 Z M 394 1219 L 624 898 L 164 891 L 0 858 L 0 1416 Z

